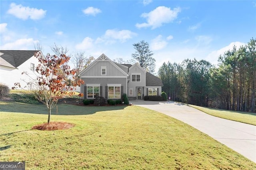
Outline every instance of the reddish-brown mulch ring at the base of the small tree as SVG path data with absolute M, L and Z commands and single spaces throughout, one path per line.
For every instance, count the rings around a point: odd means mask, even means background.
M 66 123 L 66 122 L 50 122 L 48 123 L 43 123 L 40 125 L 35 125 L 32 127 L 32 129 L 37 129 L 37 130 L 64 130 L 64 129 L 69 129 L 74 127 L 73 124 L 71 123 Z

